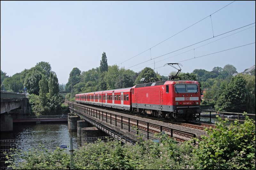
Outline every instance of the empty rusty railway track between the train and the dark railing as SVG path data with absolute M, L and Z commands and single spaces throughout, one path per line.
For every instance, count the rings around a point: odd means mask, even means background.
M 160 126 L 157 124 L 140 121 L 140 120 L 137 120 L 136 118 L 124 117 L 124 116 L 120 116 L 120 115 L 116 115 L 116 114 L 111 114 L 106 111 L 99 111 L 97 109 L 95 110 L 92 108 L 93 108 L 92 106 L 90 106 L 90 108 L 89 108 L 83 104 L 75 104 L 75 106 L 74 106 L 74 109 L 78 109 L 79 111 L 82 110 L 82 112 L 87 113 L 87 114 L 89 113 L 89 115 L 96 117 L 96 118 L 99 117 L 99 119 L 102 119 L 103 121 L 106 121 L 107 123 L 110 123 L 110 124 L 112 122 L 114 122 L 116 124 L 116 126 L 117 125 L 121 126 L 122 129 L 127 129 L 128 131 L 136 132 L 136 129 L 131 128 L 131 127 L 138 127 L 140 132 L 142 132 L 142 133 L 144 132 L 144 134 L 146 134 L 147 138 L 149 138 L 149 136 L 153 136 L 154 133 L 160 133 L 161 131 L 162 132 L 164 131 L 165 134 L 169 135 L 170 137 L 175 138 L 179 142 L 184 142 L 191 138 L 196 137 L 195 134 L 192 134 L 189 132 L 184 132 L 184 131 L 172 129 L 169 127 L 163 127 L 163 126 Z M 100 109 L 102 109 L 102 108 L 100 108 Z M 135 116 L 135 115 L 132 115 L 132 116 Z M 181 124 L 181 123 L 177 123 L 177 124 Z M 187 124 L 187 126 L 188 126 L 188 124 Z M 193 125 L 190 127 L 199 128 L 199 125 Z M 200 128 L 203 129 L 203 127 L 200 127 Z M 137 134 L 138 134 L 138 132 L 137 132 Z M 200 138 L 200 137 L 198 137 L 198 138 Z M 194 143 L 197 144 L 195 141 L 194 141 Z

